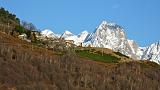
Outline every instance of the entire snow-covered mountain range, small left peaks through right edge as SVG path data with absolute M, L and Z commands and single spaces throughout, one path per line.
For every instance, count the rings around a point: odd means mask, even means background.
M 113 51 L 121 52 L 135 60 L 150 60 L 160 64 L 160 43 L 154 43 L 148 47 L 139 47 L 134 40 L 129 40 L 124 29 L 115 24 L 103 21 L 93 33 L 83 31 L 74 35 L 70 31 L 65 31 L 62 35 L 54 34 L 51 30 L 41 32 L 43 36 L 63 37 L 65 40 L 73 40 L 74 44 L 84 47 L 109 48 Z

